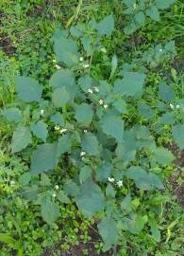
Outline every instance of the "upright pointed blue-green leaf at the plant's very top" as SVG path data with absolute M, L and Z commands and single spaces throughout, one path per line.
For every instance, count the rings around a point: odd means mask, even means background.
M 96 28 L 98 35 L 110 35 L 114 29 L 113 16 L 110 14 L 109 16 L 105 17 L 100 23 L 97 24 Z

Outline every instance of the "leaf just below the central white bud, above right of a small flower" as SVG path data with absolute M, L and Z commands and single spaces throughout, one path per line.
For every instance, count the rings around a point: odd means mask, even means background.
M 97 138 L 87 133 L 82 137 L 82 149 L 90 155 L 99 155 L 99 144 Z

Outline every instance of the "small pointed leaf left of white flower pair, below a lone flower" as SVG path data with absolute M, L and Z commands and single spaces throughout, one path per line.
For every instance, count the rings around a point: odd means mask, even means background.
M 39 120 L 37 123 L 32 124 L 30 129 L 36 137 L 39 137 L 42 141 L 46 142 L 46 137 L 48 135 L 47 127 L 48 125 L 43 120 Z

